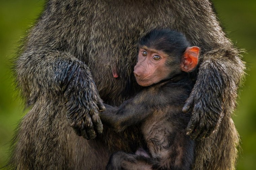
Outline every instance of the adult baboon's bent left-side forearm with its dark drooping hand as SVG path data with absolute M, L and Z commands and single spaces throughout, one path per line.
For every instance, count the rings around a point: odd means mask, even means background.
M 41 95 L 64 95 L 67 119 L 78 135 L 91 139 L 102 132 L 98 112 L 104 105 L 85 63 L 66 52 L 30 49 L 15 62 L 15 72 L 27 105 Z

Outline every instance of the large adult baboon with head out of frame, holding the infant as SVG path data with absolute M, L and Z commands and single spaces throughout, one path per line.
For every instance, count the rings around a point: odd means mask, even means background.
M 47 1 L 14 63 L 30 110 L 8 167 L 103 169 L 111 153 L 143 146 L 136 126 L 122 135 L 102 131 L 99 112 L 102 100 L 120 105 L 141 90 L 133 77 L 137 42 L 156 28 L 177 30 L 201 47 L 183 109 L 192 110 L 187 134 L 201 139 L 193 169 L 234 169 L 239 136 L 231 113 L 245 66 L 209 0 Z

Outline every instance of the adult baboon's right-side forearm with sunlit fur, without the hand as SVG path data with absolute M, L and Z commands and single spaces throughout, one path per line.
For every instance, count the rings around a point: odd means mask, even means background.
M 237 89 L 245 76 L 245 69 L 245 62 L 241 60 L 240 52 L 237 49 L 212 50 L 203 55 L 203 62 L 198 73 L 198 79 L 200 79 L 198 83 L 210 88 L 209 91 L 216 91 L 219 95 L 223 95 L 222 101 L 226 102 L 224 107 L 230 106 L 229 109 L 233 110 L 235 102 L 230 103 L 230 101 L 236 99 Z M 209 76 L 213 77 L 214 81 L 209 81 L 209 79 L 206 81 L 205 73 L 210 74 Z

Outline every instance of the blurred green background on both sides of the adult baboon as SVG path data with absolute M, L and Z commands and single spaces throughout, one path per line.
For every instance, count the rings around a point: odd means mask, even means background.
M 255 169 L 256 161 L 256 1 L 214 0 L 218 17 L 228 37 L 247 50 L 247 80 L 239 91 L 238 107 L 233 116 L 241 135 L 242 151 L 238 170 Z M 0 167 L 7 159 L 8 142 L 17 122 L 24 116 L 21 99 L 13 87 L 10 59 L 42 10 L 44 0 L 0 0 Z

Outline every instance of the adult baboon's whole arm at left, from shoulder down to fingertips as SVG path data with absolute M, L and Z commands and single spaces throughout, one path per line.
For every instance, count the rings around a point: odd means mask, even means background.
M 104 109 L 91 71 L 81 61 L 88 58 L 94 7 L 84 1 L 48 1 L 15 62 L 17 83 L 27 105 L 40 95 L 64 95 L 70 125 L 87 139 L 102 132 L 98 112 Z

